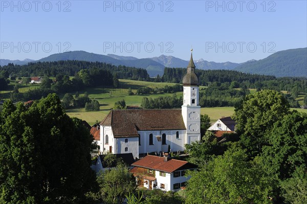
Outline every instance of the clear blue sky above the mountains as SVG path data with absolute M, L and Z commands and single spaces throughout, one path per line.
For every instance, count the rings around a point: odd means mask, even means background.
M 0 1 L 0 58 L 83 50 L 245 62 L 307 47 L 307 1 Z

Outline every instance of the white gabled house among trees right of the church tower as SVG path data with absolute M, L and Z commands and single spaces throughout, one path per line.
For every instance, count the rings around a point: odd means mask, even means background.
M 214 135 L 220 138 L 224 133 L 234 132 L 235 121 L 231 117 L 223 117 L 213 123 L 207 130 L 213 131 Z

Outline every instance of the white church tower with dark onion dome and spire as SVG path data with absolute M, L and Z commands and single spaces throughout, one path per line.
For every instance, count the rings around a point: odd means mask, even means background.
M 191 58 L 187 74 L 183 77 L 182 118 L 186 126 L 186 144 L 201 140 L 201 106 L 199 105 L 199 85 L 195 74 L 195 64 Z

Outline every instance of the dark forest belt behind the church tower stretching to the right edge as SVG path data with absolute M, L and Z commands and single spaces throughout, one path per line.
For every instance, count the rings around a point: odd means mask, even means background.
M 185 68 L 165 68 L 162 81 L 182 83 L 186 73 Z M 199 84 L 210 86 L 213 83 L 224 83 L 233 88 L 257 88 L 287 90 L 291 93 L 307 92 L 307 78 L 299 77 L 275 77 L 258 74 L 248 74 L 232 70 L 195 70 L 199 78 Z M 228 84 L 228 85 L 227 85 Z

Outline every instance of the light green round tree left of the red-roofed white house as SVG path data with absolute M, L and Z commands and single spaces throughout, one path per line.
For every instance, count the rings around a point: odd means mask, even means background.
M 125 195 L 132 193 L 136 187 L 136 179 L 125 165 L 117 165 L 108 171 L 100 172 L 97 177 L 99 184 L 98 197 L 104 203 L 123 203 Z

